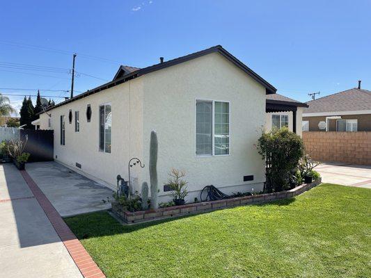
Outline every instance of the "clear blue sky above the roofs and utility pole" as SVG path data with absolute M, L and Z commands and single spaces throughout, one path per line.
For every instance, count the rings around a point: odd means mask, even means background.
M 81 73 L 74 88 L 84 92 L 111 80 L 120 64 L 146 67 L 216 44 L 300 101 L 358 79 L 371 90 L 370 10 L 370 0 L 3 1 L 0 92 L 69 90 L 73 52 Z M 10 99 L 17 108 L 22 101 Z

